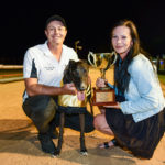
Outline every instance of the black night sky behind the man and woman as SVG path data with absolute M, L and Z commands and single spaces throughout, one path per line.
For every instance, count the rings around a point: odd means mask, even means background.
M 25 51 L 44 43 L 45 21 L 52 14 L 65 18 L 68 34 L 65 44 L 80 41 L 80 58 L 89 51 L 110 51 L 110 29 L 120 19 L 131 19 L 138 26 L 141 44 L 152 56 L 165 53 L 165 8 L 158 1 L 54 0 L 4 1 L 0 7 L 1 63 L 22 64 Z

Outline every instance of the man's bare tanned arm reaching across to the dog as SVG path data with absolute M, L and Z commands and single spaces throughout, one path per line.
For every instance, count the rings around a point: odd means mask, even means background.
M 74 84 L 66 84 L 63 87 L 53 87 L 37 84 L 37 78 L 25 78 L 25 89 L 30 97 L 36 95 L 76 95 L 76 88 Z

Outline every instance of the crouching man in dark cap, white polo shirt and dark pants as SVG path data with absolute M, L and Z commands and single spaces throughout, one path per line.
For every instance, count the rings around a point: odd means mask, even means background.
M 31 118 L 38 130 L 38 140 L 45 153 L 54 153 L 55 145 L 52 141 L 57 138 L 55 128 L 59 124 L 57 109 L 58 95 L 76 95 L 74 84 L 61 87 L 63 72 L 69 59 L 78 61 L 76 52 L 64 45 L 67 34 L 65 20 L 59 15 L 47 19 L 45 35 L 47 41 L 26 51 L 23 63 L 25 92 L 23 95 L 23 110 Z M 92 117 L 86 114 L 85 131 L 94 130 Z M 65 127 L 79 129 L 79 118 L 66 118 Z

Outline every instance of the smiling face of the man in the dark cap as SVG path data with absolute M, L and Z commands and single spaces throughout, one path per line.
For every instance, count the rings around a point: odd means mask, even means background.
M 67 30 L 61 21 L 50 22 L 45 30 L 45 35 L 51 44 L 63 44 L 66 34 Z

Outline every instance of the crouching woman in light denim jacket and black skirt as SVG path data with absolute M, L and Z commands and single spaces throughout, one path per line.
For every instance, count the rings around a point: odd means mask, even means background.
M 99 147 L 120 145 L 136 156 L 151 158 L 165 130 L 165 99 L 156 72 L 140 47 L 132 21 L 122 20 L 113 26 L 111 43 L 118 54 L 114 66 L 118 102 L 101 109 L 94 125 L 114 139 Z M 98 78 L 96 85 L 105 87 L 107 80 Z

